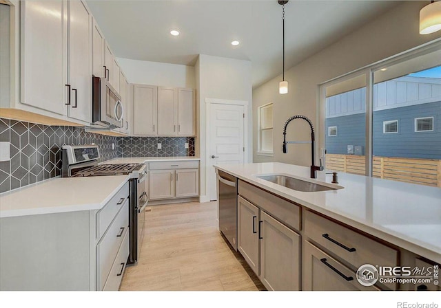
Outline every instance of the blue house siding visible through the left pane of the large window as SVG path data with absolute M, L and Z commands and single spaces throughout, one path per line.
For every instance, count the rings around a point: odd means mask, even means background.
M 326 119 L 326 153 L 347 154 L 347 145 L 365 148 L 365 113 Z M 329 137 L 328 127 L 337 126 L 337 135 Z M 363 150 L 364 153 L 364 150 Z

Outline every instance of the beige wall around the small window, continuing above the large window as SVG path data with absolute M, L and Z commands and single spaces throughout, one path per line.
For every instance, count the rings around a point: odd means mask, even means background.
M 274 157 L 256 155 L 257 124 L 254 121 L 254 162 L 274 161 L 309 166 L 309 144 L 290 144 L 288 153 L 282 153 L 285 121 L 291 115 L 302 114 L 310 118 L 317 127 L 320 83 L 438 39 L 440 32 L 429 35 L 418 33 L 419 12 L 428 3 L 429 1 L 404 1 L 337 43 L 292 67 L 285 72 L 285 80 L 289 83 L 288 94 L 278 94 L 278 83 L 282 76 L 254 89 L 254 119 L 257 119 L 259 106 L 274 102 Z M 287 132 L 287 140 L 310 140 L 309 129 L 304 121 L 294 120 L 289 124 Z M 316 137 L 318 135 L 317 133 Z M 317 140 L 317 144 L 320 144 L 320 140 Z

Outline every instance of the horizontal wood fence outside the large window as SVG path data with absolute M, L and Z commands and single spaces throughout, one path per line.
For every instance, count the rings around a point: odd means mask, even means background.
M 327 154 L 326 168 L 365 175 L 365 156 Z M 441 187 L 441 160 L 403 157 L 373 157 L 373 177 Z

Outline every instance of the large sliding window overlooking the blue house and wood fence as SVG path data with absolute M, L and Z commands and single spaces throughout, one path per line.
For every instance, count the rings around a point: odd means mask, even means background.
M 424 166 L 441 160 L 441 131 L 434 123 L 441 109 L 440 90 L 441 42 L 321 85 L 325 168 L 439 186 L 433 170 Z M 338 138 L 333 126 L 338 126 Z M 356 147 L 364 151 L 357 155 Z

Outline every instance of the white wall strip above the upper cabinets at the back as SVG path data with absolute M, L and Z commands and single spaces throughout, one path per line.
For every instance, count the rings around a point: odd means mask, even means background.
M 170 63 L 116 58 L 128 83 L 160 85 L 163 87 L 196 87 L 194 67 Z

